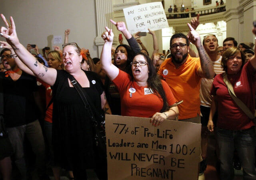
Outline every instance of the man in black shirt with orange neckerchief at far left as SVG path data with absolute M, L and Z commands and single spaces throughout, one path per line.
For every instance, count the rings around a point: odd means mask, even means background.
M 10 49 L 3 49 L 0 56 L 7 70 L 4 73 L 0 72 L 3 80 L 4 121 L 14 152 L 14 162 L 21 174 L 19 179 L 27 179 L 24 159 L 25 135 L 36 154 L 39 179 L 49 179 L 46 175 L 44 137 L 34 98 L 37 91 L 36 79 L 18 68 L 14 61 L 14 58 L 17 58 L 14 51 L 11 54 Z

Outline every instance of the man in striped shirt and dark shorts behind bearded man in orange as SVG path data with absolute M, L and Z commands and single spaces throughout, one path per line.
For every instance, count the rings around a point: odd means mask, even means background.
M 210 59 L 212 60 L 212 64 L 214 67 L 214 71 L 217 74 L 223 73 L 223 69 L 221 67 L 221 59 L 222 56 L 218 55 L 218 39 L 214 34 L 208 34 L 204 37 L 203 46 L 206 53 L 209 55 Z M 206 169 L 206 154 L 207 154 L 207 147 L 208 147 L 208 119 L 210 115 L 210 109 L 212 104 L 212 96 L 210 95 L 210 90 L 212 87 L 213 79 L 201 79 L 201 88 L 200 88 L 200 111 L 201 111 L 201 124 L 202 124 L 202 131 L 201 131 L 201 147 L 202 147 L 202 158 L 203 161 L 201 163 L 201 172 L 204 172 Z M 218 155 L 218 150 L 217 150 Z

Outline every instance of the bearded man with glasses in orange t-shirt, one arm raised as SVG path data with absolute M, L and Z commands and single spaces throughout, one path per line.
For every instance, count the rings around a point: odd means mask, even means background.
M 192 123 L 200 122 L 200 81 L 202 77 L 213 78 L 215 73 L 212 62 L 201 44 L 200 35 L 188 24 L 188 37 L 182 33 L 174 34 L 170 40 L 171 58 L 166 59 L 158 74 L 168 83 L 177 101 L 184 102 L 178 105 L 179 121 Z M 189 40 L 199 53 L 199 57 L 191 57 Z M 199 162 L 202 162 L 201 147 Z

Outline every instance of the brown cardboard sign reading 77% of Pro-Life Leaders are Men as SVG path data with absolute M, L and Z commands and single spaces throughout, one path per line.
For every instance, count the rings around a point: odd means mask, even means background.
M 196 180 L 201 125 L 106 115 L 108 180 Z

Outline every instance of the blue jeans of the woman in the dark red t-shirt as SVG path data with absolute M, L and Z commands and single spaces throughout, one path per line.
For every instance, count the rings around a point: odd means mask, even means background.
M 251 127 L 241 131 L 218 128 L 217 135 L 220 148 L 220 179 L 233 179 L 234 168 L 232 160 L 234 148 L 236 148 L 243 167 L 243 179 L 256 180 L 256 170 L 254 167 L 254 151 L 256 146 L 255 128 Z

